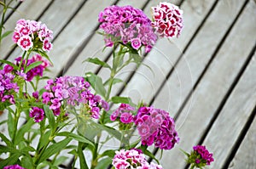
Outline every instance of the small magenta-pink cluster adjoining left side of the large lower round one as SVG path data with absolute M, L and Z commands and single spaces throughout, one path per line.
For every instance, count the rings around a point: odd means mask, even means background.
M 135 108 L 131 107 L 130 104 L 120 104 L 119 108 L 110 115 L 110 120 L 115 121 L 118 119 L 122 123 L 129 124 L 133 122 L 132 111 L 134 110 Z

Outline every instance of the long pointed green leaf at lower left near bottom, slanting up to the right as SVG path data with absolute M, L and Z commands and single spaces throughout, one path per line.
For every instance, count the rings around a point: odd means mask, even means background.
M 61 151 L 61 149 L 64 149 L 71 140 L 72 138 L 65 138 L 58 143 L 51 144 L 47 149 L 45 149 L 38 161 L 38 164 L 48 159 L 51 155 L 55 155 L 57 152 Z

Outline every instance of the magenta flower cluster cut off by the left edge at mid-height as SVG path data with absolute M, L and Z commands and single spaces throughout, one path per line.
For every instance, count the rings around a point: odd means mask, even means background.
M 7 67 L 0 70 L 0 99 L 1 102 L 9 101 L 10 104 L 15 104 L 14 93 L 19 92 L 19 87 L 15 82 L 15 76 L 9 73 Z

